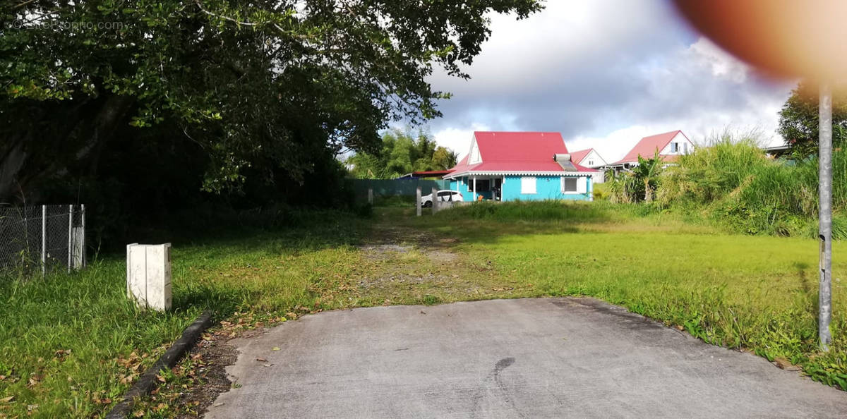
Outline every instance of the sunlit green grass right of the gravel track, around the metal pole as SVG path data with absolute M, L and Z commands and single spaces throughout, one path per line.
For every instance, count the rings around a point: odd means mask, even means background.
M 706 342 L 783 357 L 847 389 L 847 243 L 833 245 L 835 339 L 822 354 L 816 240 L 726 234 L 678 214 L 638 212 L 607 203 L 507 203 L 412 223 L 457 237 L 469 259 L 531 285 L 529 295 L 594 296 Z

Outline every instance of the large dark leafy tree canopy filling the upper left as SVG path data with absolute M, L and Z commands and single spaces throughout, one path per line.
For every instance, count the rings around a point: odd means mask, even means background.
M 0 6 L 0 201 L 97 177 L 147 139 L 202 152 L 207 190 L 303 179 L 315 156 L 379 150 L 391 120 L 466 77 L 490 13 L 537 0 L 12 0 Z M 134 139 L 136 142 L 129 141 Z M 141 166 L 143 168 L 143 166 Z M 193 166 L 186 166 L 191 169 Z M 144 175 L 144 174 L 134 174 Z M 199 185 L 198 185 L 199 186 Z

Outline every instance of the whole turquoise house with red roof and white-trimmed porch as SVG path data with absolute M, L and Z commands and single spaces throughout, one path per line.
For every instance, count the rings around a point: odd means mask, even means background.
M 468 155 L 444 179 L 465 201 L 590 201 L 596 174 L 573 162 L 557 132 L 476 131 Z

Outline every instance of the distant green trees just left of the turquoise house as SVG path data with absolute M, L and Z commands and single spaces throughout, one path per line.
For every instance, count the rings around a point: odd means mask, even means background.
M 457 154 L 436 146 L 429 133 L 419 130 L 389 130 L 382 135 L 378 152 L 358 152 L 348 158 L 351 174 L 359 179 L 396 179 L 404 174 L 426 170 L 446 170 L 456 166 Z

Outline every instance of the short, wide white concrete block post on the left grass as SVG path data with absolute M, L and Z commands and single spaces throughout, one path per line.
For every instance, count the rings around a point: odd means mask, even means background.
M 170 243 L 126 246 L 126 288 L 137 306 L 170 309 Z

